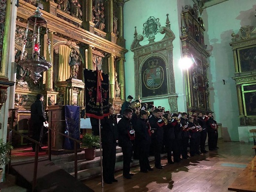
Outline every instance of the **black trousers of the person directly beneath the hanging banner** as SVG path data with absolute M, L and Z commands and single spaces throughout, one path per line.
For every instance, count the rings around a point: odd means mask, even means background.
M 112 182 L 115 179 L 116 164 L 116 143 L 102 142 L 102 166 L 103 179 L 105 182 Z

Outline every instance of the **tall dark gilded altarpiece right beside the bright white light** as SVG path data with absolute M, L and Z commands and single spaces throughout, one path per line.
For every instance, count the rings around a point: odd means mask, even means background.
M 183 57 L 192 59 L 191 68 L 185 69 L 188 111 L 210 112 L 209 81 L 207 58 L 210 56 L 204 43 L 204 24 L 198 16 L 198 7 L 185 6 L 181 14 Z

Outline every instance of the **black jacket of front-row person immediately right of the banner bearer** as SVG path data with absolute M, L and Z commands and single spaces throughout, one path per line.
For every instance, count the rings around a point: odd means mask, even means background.
M 117 124 L 119 147 L 131 147 L 131 140 L 128 131 L 131 130 L 131 123 L 125 116 Z

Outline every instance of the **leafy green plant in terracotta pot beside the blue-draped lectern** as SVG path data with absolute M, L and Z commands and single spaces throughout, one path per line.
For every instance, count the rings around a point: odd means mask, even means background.
M 95 149 L 99 148 L 99 136 L 92 134 L 84 134 L 82 139 L 82 147 L 85 150 L 85 159 L 95 159 Z

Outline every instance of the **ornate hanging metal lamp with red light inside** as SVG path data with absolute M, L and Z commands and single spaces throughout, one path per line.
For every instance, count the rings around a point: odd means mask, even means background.
M 26 49 L 26 46 L 29 44 L 27 42 L 29 26 L 33 26 L 32 33 L 32 50 Z M 48 70 L 51 66 L 51 62 L 47 62 L 43 56 L 40 55 L 40 30 L 41 27 L 45 25 L 46 34 L 47 34 L 47 44 L 48 44 L 48 53 L 51 60 L 51 41 L 48 34 L 47 21 L 42 17 L 42 13 L 39 8 L 34 12 L 34 15 L 28 18 L 28 24 L 26 32 L 23 37 L 23 45 L 21 52 L 21 60 L 19 65 L 22 66 L 25 70 L 29 70 L 30 77 L 33 79 L 34 83 L 37 83 L 38 80 L 42 77 L 41 73 Z

